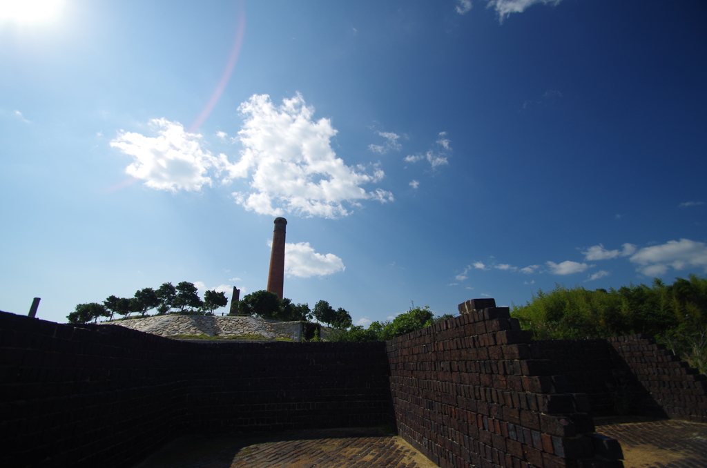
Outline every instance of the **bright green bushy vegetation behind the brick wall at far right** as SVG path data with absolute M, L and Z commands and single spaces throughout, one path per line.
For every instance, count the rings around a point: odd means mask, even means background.
M 682 359 L 707 370 L 707 279 L 678 278 L 667 286 L 641 284 L 588 291 L 556 285 L 513 305 L 513 317 L 534 339 L 583 339 L 652 334 Z

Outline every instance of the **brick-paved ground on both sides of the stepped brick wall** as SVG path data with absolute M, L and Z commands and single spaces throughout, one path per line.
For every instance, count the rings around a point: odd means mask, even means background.
M 597 420 L 617 438 L 625 468 L 707 467 L 707 424 L 641 418 Z M 134 468 L 436 468 L 404 440 L 380 428 L 267 435 L 187 436 Z

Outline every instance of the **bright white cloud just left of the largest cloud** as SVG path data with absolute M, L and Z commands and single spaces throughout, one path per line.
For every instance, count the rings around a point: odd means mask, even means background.
M 214 164 L 214 157 L 201 149 L 201 135 L 187 133 L 182 124 L 167 119 L 152 119 L 149 124 L 158 136 L 121 130 L 110 142 L 110 146 L 134 158 L 125 172 L 144 180 L 148 187 L 172 192 L 211 185 L 206 170 Z

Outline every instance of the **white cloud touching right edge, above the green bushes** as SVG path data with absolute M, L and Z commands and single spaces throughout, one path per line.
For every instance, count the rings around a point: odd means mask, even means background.
M 699 267 L 707 273 L 707 245 L 689 239 L 669 240 L 638 250 L 630 260 L 640 265 L 637 271 L 646 276 L 665 274 L 668 267 L 675 270 Z

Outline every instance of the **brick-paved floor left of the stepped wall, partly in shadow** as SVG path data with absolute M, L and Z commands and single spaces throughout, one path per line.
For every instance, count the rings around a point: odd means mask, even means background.
M 437 468 L 382 429 L 179 438 L 134 468 Z

